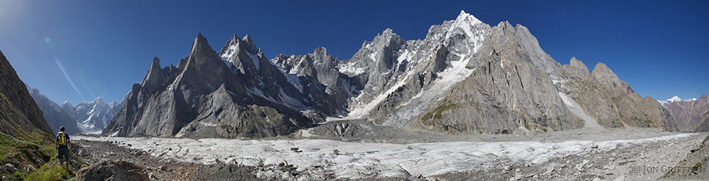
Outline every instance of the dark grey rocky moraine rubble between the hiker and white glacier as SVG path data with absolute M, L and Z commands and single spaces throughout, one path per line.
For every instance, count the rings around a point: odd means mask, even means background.
M 263 180 L 252 173 L 254 168 L 239 165 L 203 165 L 177 162 L 126 148 L 116 142 L 77 140 L 74 153 L 89 163 L 77 171 L 77 178 L 87 180 Z M 134 174 L 125 174 L 133 170 Z M 100 172 L 113 174 L 100 175 Z M 118 174 L 118 172 L 122 172 Z

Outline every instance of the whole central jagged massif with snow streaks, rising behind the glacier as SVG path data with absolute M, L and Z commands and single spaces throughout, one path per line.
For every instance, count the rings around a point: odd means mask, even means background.
M 386 29 L 349 60 L 325 48 L 269 60 L 248 35 L 215 52 L 199 34 L 179 65 L 159 61 L 104 135 L 281 136 L 337 119 L 452 134 L 676 130 L 659 102 L 602 63 L 591 73 L 576 58 L 561 65 L 526 27 L 491 27 L 464 11 L 423 40 Z

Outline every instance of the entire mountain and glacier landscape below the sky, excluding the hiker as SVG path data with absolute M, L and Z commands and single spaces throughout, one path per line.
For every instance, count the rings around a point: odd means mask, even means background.
M 709 97 L 643 97 L 603 62 L 563 64 L 539 41 L 525 26 L 491 26 L 465 11 L 419 40 L 386 28 L 347 60 L 324 47 L 269 59 L 250 35 L 214 49 L 197 33 L 177 65 L 150 55 L 121 102 L 97 97 L 76 106 L 24 84 L 0 53 L 0 150 L 9 150 L 0 173 L 2 180 L 707 178 Z M 52 157 L 59 126 L 74 144 L 67 169 Z

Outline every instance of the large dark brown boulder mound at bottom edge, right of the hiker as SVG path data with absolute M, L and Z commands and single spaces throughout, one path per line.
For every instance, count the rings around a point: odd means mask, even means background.
M 150 180 L 145 168 L 126 161 L 103 160 L 77 172 L 77 180 Z

